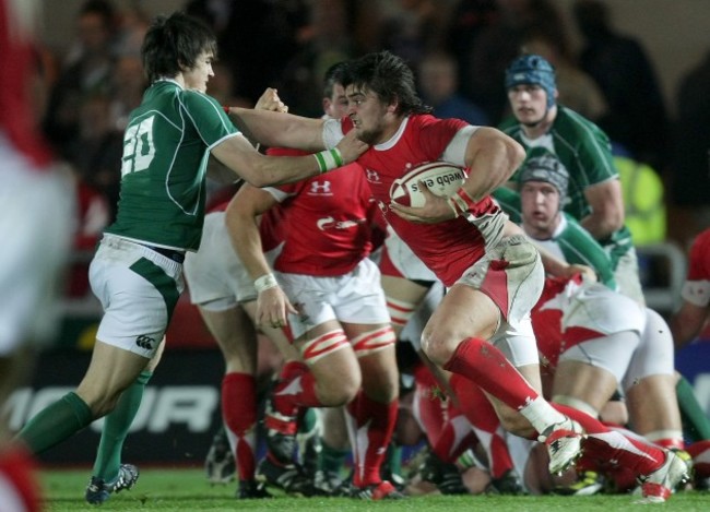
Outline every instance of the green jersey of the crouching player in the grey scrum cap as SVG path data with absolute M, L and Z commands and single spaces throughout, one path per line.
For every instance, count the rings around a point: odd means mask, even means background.
M 511 222 L 522 225 L 520 213 L 522 209 L 518 192 L 501 187 L 494 191 L 493 197 Z M 571 215 L 563 213 L 561 222 L 549 239 L 537 240 L 531 236 L 528 238 L 567 263 L 591 266 L 596 272 L 600 283 L 614 290 L 617 289 L 610 254 Z

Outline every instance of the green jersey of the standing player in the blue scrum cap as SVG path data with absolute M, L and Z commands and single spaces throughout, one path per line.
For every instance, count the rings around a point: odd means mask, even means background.
M 500 130 L 520 142 L 528 154 L 533 147 L 545 147 L 557 155 L 569 171 L 569 190 L 564 210 L 577 221 L 592 212 L 584 198 L 584 189 L 619 177 L 606 134 L 590 120 L 561 105 L 557 106 L 557 116 L 549 132 L 540 139 L 526 139 L 516 118 L 505 120 Z M 518 172 L 512 177 L 512 180 L 517 179 Z M 632 247 L 631 234 L 626 226 L 599 242 L 608 252 L 614 267 Z

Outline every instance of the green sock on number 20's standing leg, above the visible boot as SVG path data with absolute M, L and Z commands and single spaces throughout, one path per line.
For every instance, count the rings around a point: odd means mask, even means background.
M 135 382 L 123 391 L 116 408 L 106 416 L 96 461 L 94 461 L 93 476 L 105 481 L 113 481 L 118 476 L 123 441 L 141 406 L 143 391 L 151 377 L 153 377 L 152 371 L 142 371 Z

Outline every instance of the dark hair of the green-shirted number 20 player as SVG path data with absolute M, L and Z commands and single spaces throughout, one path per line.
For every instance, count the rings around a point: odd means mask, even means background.
M 145 34 L 141 57 L 150 83 L 174 78 L 191 69 L 203 51 L 217 56 L 217 40 L 210 27 L 182 12 L 156 16 Z

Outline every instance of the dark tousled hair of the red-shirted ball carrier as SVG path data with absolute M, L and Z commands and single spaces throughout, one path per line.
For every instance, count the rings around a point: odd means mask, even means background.
M 398 102 L 398 114 L 431 114 L 416 93 L 412 69 L 389 51 L 367 53 L 347 66 L 343 85 L 372 91 L 380 100 Z

